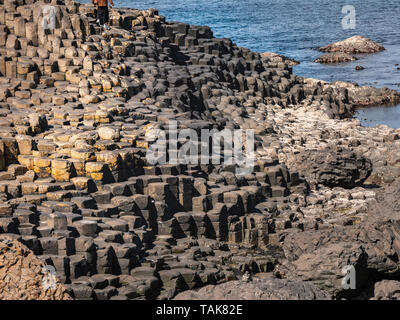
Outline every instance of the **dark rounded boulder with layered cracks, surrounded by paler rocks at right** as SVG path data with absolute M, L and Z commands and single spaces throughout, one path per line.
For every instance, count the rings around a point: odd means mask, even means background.
M 341 147 L 306 150 L 293 155 L 292 168 L 312 185 L 354 188 L 361 186 L 372 172 L 369 159 Z

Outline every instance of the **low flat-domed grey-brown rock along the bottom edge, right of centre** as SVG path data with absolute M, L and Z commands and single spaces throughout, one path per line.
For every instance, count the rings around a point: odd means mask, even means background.
M 254 279 L 206 286 L 178 294 L 174 300 L 326 300 L 315 286 L 296 280 Z

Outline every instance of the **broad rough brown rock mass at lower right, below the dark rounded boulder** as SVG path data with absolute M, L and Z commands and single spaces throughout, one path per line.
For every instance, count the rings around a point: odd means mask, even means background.
M 376 213 L 378 214 L 378 213 Z M 291 234 L 283 243 L 289 279 L 310 281 L 332 296 L 357 295 L 382 278 L 399 276 L 400 221 L 366 222 Z M 342 268 L 356 269 L 356 290 L 344 292 Z

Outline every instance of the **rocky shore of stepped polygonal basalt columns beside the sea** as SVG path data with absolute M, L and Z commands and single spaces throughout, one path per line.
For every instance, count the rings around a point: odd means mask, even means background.
M 270 278 L 244 286 L 266 299 L 397 297 L 400 130 L 350 116 L 399 93 L 304 79 L 155 9 L 112 9 L 102 30 L 72 0 L 0 5 L 0 242 L 72 298 L 194 298 L 245 272 Z M 254 130 L 253 172 L 151 165 L 147 133 L 172 120 Z

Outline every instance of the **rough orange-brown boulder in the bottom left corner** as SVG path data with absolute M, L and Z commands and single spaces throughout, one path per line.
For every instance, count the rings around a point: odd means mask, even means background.
M 18 241 L 0 238 L 0 300 L 71 300 L 59 283 L 43 287 L 43 261 Z

